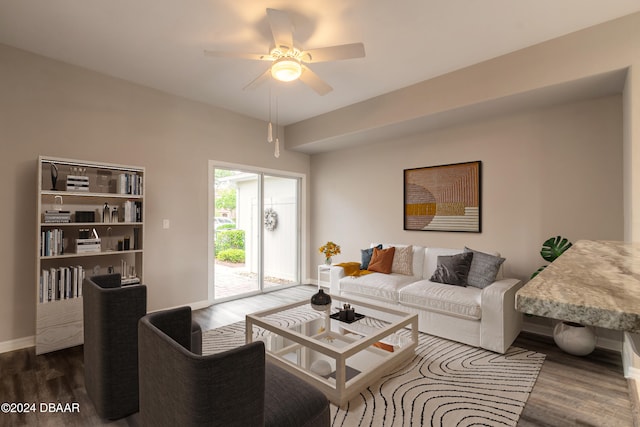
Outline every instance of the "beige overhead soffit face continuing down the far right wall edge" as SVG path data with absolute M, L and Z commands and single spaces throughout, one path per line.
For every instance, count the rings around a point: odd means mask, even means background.
M 381 134 L 402 132 L 416 123 L 434 128 L 442 120 L 464 122 L 460 117 L 470 111 L 481 116 L 484 110 L 494 108 L 522 108 L 528 102 L 544 102 L 541 95 L 546 101 L 565 95 L 585 99 L 586 93 L 602 91 L 603 81 L 623 70 L 627 73 L 626 84 L 615 90 L 609 87 L 608 92 L 604 89 L 600 95 L 624 93 L 625 231 L 621 238 L 639 241 L 638 40 L 640 13 L 635 13 L 287 126 L 287 146 L 308 152 L 322 145 L 344 147 L 354 141 L 377 139 Z M 598 87 L 586 88 L 585 83 Z M 311 245 L 319 245 L 322 240 L 318 236 Z

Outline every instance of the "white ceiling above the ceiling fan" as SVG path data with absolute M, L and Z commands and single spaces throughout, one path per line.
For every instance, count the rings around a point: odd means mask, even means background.
M 366 57 L 300 82 L 243 91 L 268 63 L 267 7 L 286 10 L 302 49 L 363 42 Z M 269 91 L 291 124 L 640 11 L 639 0 L 0 0 L 0 43 L 266 120 Z M 270 89 L 271 88 L 271 89 Z

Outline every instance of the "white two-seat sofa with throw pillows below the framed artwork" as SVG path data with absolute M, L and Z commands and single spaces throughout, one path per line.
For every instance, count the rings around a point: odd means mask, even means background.
M 390 246 L 407 245 L 383 244 Z M 523 283 L 502 278 L 501 267 L 495 281 L 483 289 L 432 282 L 429 279 L 436 270 L 438 256 L 464 250 L 420 246 L 412 249 L 411 275 L 371 273 L 353 277 L 345 276 L 342 267 L 332 266 L 330 293 L 416 313 L 421 332 L 505 353 L 522 327 L 515 294 Z

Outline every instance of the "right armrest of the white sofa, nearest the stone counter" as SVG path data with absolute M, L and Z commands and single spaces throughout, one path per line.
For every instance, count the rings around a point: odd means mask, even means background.
M 522 313 L 516 311 L 518 279 L 502 279 L 482 290 L 480 346 L 505 353 L 522 328 Z

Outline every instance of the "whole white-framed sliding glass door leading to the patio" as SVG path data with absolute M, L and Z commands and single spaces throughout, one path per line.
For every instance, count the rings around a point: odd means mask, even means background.
M 300 178 L 212 166 L 213 300 L 300 283 Z

